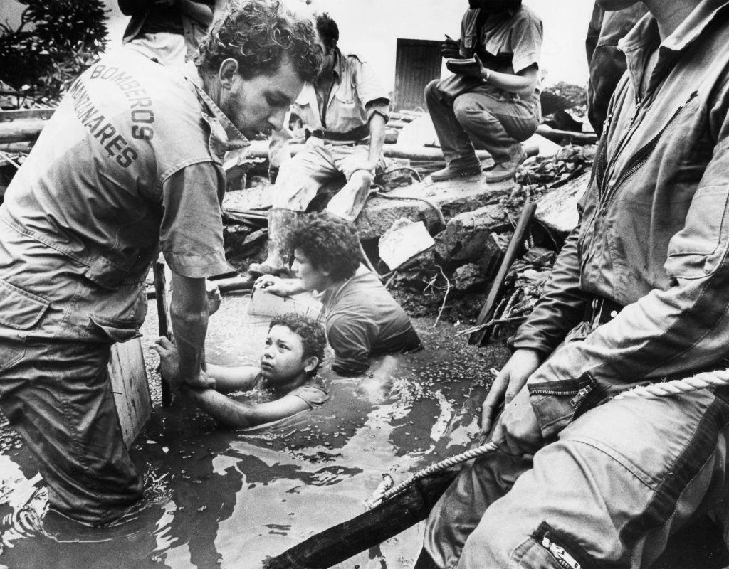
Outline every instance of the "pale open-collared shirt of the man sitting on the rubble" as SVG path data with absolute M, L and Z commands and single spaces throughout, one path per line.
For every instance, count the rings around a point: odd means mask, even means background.
M 354 53 L 343 55 L 339 48 L 332 89 L 323 101 L 319 106 L 314 86 L 306 83 L 291 111 L 304 125 L 336 133 L 347 133 L 367 125 L 375 113 L 389 119 L 389 94 L 373 66 Z

